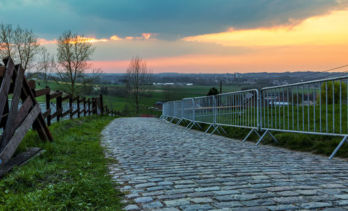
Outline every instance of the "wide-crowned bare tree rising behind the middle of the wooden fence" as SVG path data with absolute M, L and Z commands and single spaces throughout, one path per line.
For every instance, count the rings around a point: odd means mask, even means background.
M 94 68 L 90 62 L 94 51 L 95 47 L 86 42 L 84 35 L 65 31 L 58 38 L 54 71 L 63 82 L 58 83 L 58 79 L 55 79 L 62 90 L 75 95 L 79 87 L 92 83 L 100 76 L 102 70 Z

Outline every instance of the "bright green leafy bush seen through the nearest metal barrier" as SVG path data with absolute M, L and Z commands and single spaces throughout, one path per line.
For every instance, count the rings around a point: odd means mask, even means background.
M 332 98 L 333 98 L 333 92 L 334 91 L 334 98 L 335 98 L 335 103 L 340 103 L 340 82 L 339 81 L 335 81 L 335 83 L 333 84 L 332 81 L 328 81 L 327 83 L 327 101 L 328 104 L 332 104 Z M 326 103 L 326 83 L 322 83 L 322 92 L 320 93 L 321 97 L 322 97 L 322 104 Z M 332 89 L 332 85 L 333 85 L 333 89 Z M 342 102 L 347 100 L 347 84 L 342 82 L 341 83 L 341 97 L 342 97 Z M 319 104 L 319 97 L 317 99 L 317 103 Z

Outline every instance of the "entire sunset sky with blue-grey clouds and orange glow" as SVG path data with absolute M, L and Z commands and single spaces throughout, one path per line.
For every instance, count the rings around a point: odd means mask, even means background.
M 348 0 L 0 0 L 0 22 L 33 29 L 52 53 L 64 31 L 84 35 L 106 73 L 125 72 L 133 56 L 155 73 L 348 64 Z

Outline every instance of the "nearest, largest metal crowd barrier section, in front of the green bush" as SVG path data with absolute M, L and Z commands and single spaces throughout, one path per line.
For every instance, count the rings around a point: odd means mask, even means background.
M 347 84 L 343 76 L 263 88 L 260 129 L 265 132 L 257 144 L 269 131 L 342 136 L 333 158 L 348 136 Z

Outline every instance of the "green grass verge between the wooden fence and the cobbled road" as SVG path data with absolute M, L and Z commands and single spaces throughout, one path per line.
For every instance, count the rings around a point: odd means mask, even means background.
M 121 210 L 120 196 L 100 146 L 100 132 L 113 117 L 90 116 L 52 124 L 54 142 L 29 131 L 29 146 L 46 152 L 0 180 L 0 210 Z

